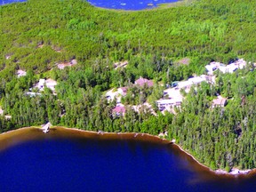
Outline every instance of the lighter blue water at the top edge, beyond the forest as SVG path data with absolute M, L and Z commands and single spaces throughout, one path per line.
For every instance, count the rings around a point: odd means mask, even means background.
M 0 4 L 11 4 L 15 2 L 25 2 L 26 0 L 2 0 Z M 122 9 L 122 10 L 143 10 L 152 9 L 157 4 L 169 4 L 178 0 L 88 0 L 94 6 L 107 9 Z

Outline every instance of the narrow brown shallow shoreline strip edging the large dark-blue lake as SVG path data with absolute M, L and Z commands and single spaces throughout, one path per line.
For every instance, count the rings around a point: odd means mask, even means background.
M 43 132 L 41 127 L 35 127 L 35 126 L 31 126 L 31 127 L 23 127 L 17 130 L 12 130 L 9 132 L 3 132 L 0 134 L 0 142 L 6 142 L 4 143 L 5 145 L 1 145 L 0 147 L 0 151 L 4 150 L 5 148 L 9 148 L 12 147 L 12 145 L 17 145 L 19 144 L 19 142 L 22 142 L 24 140 L 36 140 L 38 139 L 38 137 L 26 137 L 26 136 L 22 136 L 20 138 L 20 133 L 22 132 Z M 236 168 L 233 168 L 233 172 L 226 172 L 224 170 L 212 170 L 210 167 L 200 163 L 195 156 L 192 156 L 188 151 L 184 150 L 183 148 L 180 147 L 180 145 L 172 142 L 171 140 L 166 140 L 163 138 L 160 138 L 159 136 L 156 135 L 151 135 L 148 133 L 137 133 L 137 132 L 93 132 L 93 131 L 85 131 L 82 129 L 78 129 L 78 128 L 68 128 L 68 127 L 64 127 L 64 126 L 52 126 L 50 128 L 50 132 L 49 133 L 44 133 L 44 136 L 47 137 L 47 135 L 51 135 L 51 132 L 58 132 L 58 135 L 61 137 L 63 135 L 67 136 L 67 133 L 72 132 L 75 136 L 77 137 L 81 137 L 81 138 L 91 138 L 91 139 L 102 139 L 102 140 L 141 140 L 141 141 L 149 141 L 149 142 L 153 142 L 153 143 L 158 143 L 158 144 L 164 144 L 164 145 L 172 145 L 175 148 L 179 148 L 179 150 L 186 154 L 186 156 L 188 156 L 190 159 L 192 159 L 197 165 L 199 165 L 202 170 L 206 171 L 206 172 L 212 172 L 213 174 L 217 175 L 217 176 L 227 176 L 227 177 L 231 177 L 231 178 L 236 178 L 236 177 L 251 177 L 253 175 L 256 174 L 256 168 L 252 169 L 252 170 L 238 170 Z M 82 134 L 81 134 L 82 133 Z M 19 136 L 19 140 L 11 140 L 10 139 L 12 137 L 18 137 Z M 28 134 L 29 136 L 29 134 Z M 42 136 L 42 135 L 41 135 Z M 235 170 L 235 171 L 234 171 Z

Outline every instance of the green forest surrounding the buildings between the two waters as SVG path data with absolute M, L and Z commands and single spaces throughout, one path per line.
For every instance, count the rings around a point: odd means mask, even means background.
M 255 168 L 255 9 L 256 0 L 192 0 L 139 12 L 82 0 L 0 6 L 0 132 L 47 121 L 90 131 L 168 132 L 169 140 L 213 170 Z M 154 106 L 163 84 L 205 74 L 213 60 L 238 58 L 247 68 L 217 72 L 216 84 L 192 88 L 175 115 L 131 108 L 145 100 Z M 58 68 L 70 60 L 77 64 Z M 115 68 L 125 60 L 127 67 Z M 18 69 L 27 75 L 18 77 Z M 108 103 L 105 92 L 140 76 L 154 80 L 152 90 L 134 88 L 123 100 L 125 115 L 113 116 L 116 101 Z M 56 94 L 48 88 L 26 94 L 40 78 L 56 80 Z M 228 98 L 225 108 L 211 108 L 218 94 Z

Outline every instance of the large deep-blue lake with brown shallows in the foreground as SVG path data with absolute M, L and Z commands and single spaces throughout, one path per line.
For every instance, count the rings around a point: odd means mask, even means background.
M 147 135 L 58 128 L 0 136 L 0 191 L 253 191 L 256 177 L 216 175 Z

